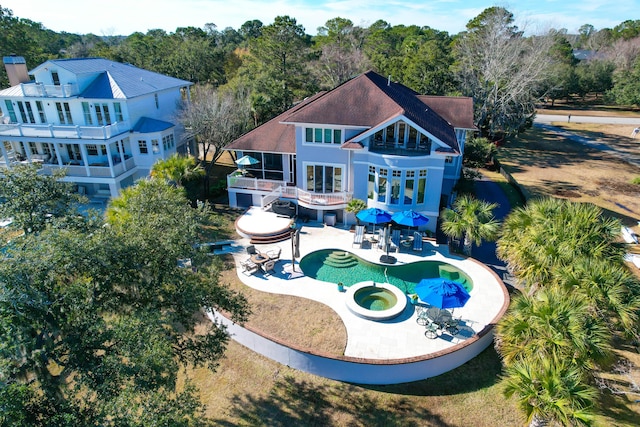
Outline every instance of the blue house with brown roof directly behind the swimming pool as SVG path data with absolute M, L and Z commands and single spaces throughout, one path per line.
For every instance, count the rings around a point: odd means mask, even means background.
M 473 100 L 422 96 L 374 72 L 319 93 L 227 147 L 259 160 L 228 181 L 229 204 L 267 207 L 353 223 L 352 198 L 369 207 L 418 211 L 434 230 L 460 178 Z

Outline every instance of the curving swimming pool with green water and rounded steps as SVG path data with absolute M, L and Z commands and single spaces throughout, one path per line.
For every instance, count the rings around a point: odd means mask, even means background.
M 422 279 L 442 277 L 462 283 L 467 291 L 473 288 L 471 278 L 463 271 L 443 261 L 416 261 L 410 264 L 381 265 L 368 262 L 357 255 L 340 249 L 322 249 L 305 255 L 300 260 L 305 276 L 346 287 L 371 280 L 390 283 L 405 294 L 414 293 Z

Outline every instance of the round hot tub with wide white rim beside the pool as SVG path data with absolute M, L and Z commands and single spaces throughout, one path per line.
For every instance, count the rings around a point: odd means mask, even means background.
M 372 281 L 351 285 L 345 293 L 349 310 L 370 320 L 393 319 L 407 306 L 407 296 L 389 283 Z

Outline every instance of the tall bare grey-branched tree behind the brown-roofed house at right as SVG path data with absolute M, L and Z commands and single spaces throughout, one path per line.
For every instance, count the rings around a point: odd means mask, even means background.
M 504 8 L 486 9 L 456 44 L 457 72 L 476 103 L 476 123 L 488 136 L 514 134 L 535 111 L 550 64 L 546 34 L 524 37 Z

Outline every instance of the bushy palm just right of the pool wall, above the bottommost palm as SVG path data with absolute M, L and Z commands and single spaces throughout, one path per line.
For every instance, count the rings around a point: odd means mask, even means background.
M 569 361 L 587 373 L 610 360 L 611 332 L 580 292 L 547 286 L 519 295 L 496 327 L 496 348 L 509 367 L 519 360 Z

